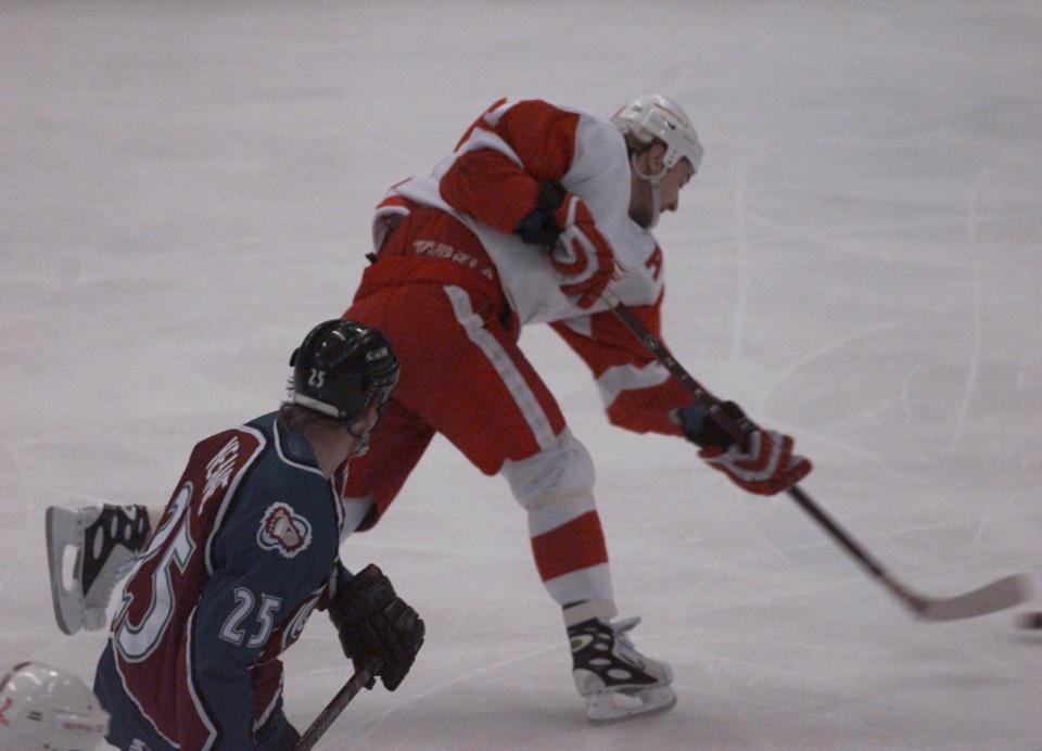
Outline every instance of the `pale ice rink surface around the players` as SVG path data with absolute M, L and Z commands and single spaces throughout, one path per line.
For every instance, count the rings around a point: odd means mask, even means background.
M 271 409 L 371 207 L 500 96 L 682 102 L 707 156 L 657 232 L 678 359 L 793 434 L 803 487 L 905 584 L 1038 580 L 1040 39 L 1037 2 L 3 3 L 2 661 L 92 676 L 45 508 L 164 502 L 198 438 Z M 342 549 L 428 644 L 320 748 L 1042 749 L 1042 632 L 914 621 L 787 498 L 610 428 L 549 329 L 522 347 L 597 461 L 620 610 L 677 707 L 586 723 L 523 512 L 437 440 Z M 325 616 L 285 664 L 303 728 L 348 675 Z

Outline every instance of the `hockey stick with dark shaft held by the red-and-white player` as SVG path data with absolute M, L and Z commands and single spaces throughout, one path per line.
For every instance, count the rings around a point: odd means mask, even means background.
M 724 409 L 721 408 L 720 399 L 708 392 L 698 383 L 691 374 L 677 362 L 673 355 L 663 346 L 658 338 L 648 331 L 647 327 L 634 315 L 625 303 L 609 289 L 606 289 L 600 298 L 606 302 L 612 313 L 614 313 L 622 323 L 630 329 L 634 336 L 655 355 L 655 357 L 665 366 L 677 381 L 681 382 L 695 400 L 706 405 L 709 413 L 717 424 L 735 438 L 742 437 L 741 428 Z M 1028 577 L 1022 574 L 1015 574 L 1000 578 L 991 584 L 987 584 L 978 589 L 957 595 L 955 597 L 924 597 L 911 591 L 907 587 L 900 584 L 872 555 L 868 553 L 859 543 L 856 543 L 847 532 L 837 524 L 831 517 L 814 502 L 814 500 L 804 493 L 799 485 L 793 485 L 786 493 L 797 504 L 800 505 L 808 514 L 811 515 L 824 530 L 847 550 L 859 563 L 861 563 L 873 576 L 875 576 L 892 595 L 894 595 L 902 604 L 911 610 L 917 618 L 924 621 L 955 621 L 960 619 L 973 618 L 975 615 L 984 615 L 999 610 L 1012 608 L 1024 602 L 1030 596 L 1030 584 Z

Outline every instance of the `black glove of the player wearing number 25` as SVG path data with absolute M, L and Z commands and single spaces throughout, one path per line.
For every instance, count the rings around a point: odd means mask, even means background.
M 370 563 L 338 587 L 329 602 L 329 616 L 355 670 L 370 658 L 379 658 L 383 664 L 377 675 L 389 691 L 396 689 L 423 646 L 425 627 L 383 572 Z M 372 685 L 370 682 L 367 688 Z

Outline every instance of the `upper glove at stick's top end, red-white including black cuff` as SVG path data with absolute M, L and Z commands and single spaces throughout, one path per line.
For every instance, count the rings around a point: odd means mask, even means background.
M 539 184 L 535 209 L 518 222 L 514 233 L 524 242 L 550 249 L 550 263 L 566 277 L 561 292 L 577 296 L 581 308 L 596 303 L 615 273 L 611 245 L 589 208 L 556 180 Z

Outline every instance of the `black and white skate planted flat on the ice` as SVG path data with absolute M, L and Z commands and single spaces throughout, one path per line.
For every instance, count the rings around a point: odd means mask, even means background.
M 638 623 L 639 618 L 618 623 L 590 619 L 568 629 L 572 677 L 594 725 L 665 712 L 676 703 L 670 666 L 644 657 L 630 641 L 627 632 Z

